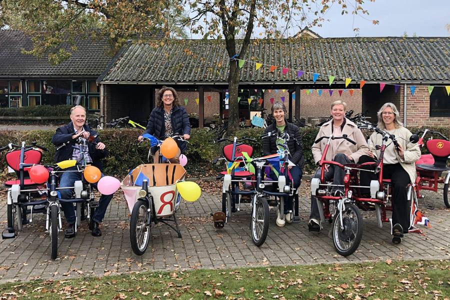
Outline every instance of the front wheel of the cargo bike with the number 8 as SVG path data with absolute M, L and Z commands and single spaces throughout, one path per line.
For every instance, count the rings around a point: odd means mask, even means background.
M 150 237 L 150 225 L 148 218 L 150 217 L 147 203 L 144 200 L 138 200 L 131 212 L 131 220 L 129 223 L 129 240 L 131 249 L 136 255 L 142 255 L 148 246 Z

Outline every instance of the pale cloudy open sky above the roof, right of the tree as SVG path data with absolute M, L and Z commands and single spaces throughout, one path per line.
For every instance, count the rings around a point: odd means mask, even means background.
M 369 11 L 364 17 L 378 20 L 378 25 L 359 16 L 354 17 L 354 27 L 359 27 L 359 36 L 449 36 L 445 24 L 450 23 L 450 0 L 375 0 L 364 1 Z M 350 8 L 350 7 L 349 7 Z M 340 15 L 341 9 L 334 4 L 325 14 L 322 27 L 311 29 L 322 37 L 355 36 L 353 16 Z

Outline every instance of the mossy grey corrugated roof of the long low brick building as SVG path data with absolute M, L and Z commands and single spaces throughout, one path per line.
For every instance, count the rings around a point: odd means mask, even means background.
M 312 82 L 295 70 L 370 81 L 450 81 L 450 37 L 345 37 L 252 40 L 243 59 L 279 66 L 255 70 L 245 62 L 240 82 Z M 129 43 L 101 82 L 225 83 L 229 58 L 223 41 L 176 40 L 163 46 Z M 233 62 L 234 63 L 234 62 Z M 290 70 L 285 75 L 281 67 Z M 327 82 L 320 76 L 317 82 Z

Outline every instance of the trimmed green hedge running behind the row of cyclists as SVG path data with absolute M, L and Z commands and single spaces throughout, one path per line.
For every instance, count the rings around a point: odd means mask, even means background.
M 416 132 L 420 128 L 411 127 L 412 132 Z M 450 136 L 450 128 L 448 127 L 431 127 L 434 131 L 442 132 L 446 136 Z M 257 140 L 253 144 L 253 156 L 262 154 L 262 141 L 259 135 L 263 132 L 259 128 L 240 129 L 236 136 L 251 137 Z M 312 159 L 311 146 L 317 135 L 317 128 L 300 128 L 302 143 L 305 156 L 305 172 L 311 172 L 315 166 Z M 52 162 L 55 152 L 55 147 L 50 143 L 53 130 L 38 130 L 38 131 L 0 131 L 0 146 L 8 142 L 19 144 L 20 141 L 25 140 L 27 143 L 36 141 L 48 148 L 44 152 L 43 161 Z M 99 131 L 99 137 L 102 142 L 106 144 L 108 155 L 104 160 L 104 173 L 115 175 L 119 178 L 123 177 L 134 166 L 146 162 L 148 153 L 148 144 L 142 143 L 137 145 L 137 136 L 141 133 L 139 129 L 103 129 Z M 364 135 L 370 135 L 370 132 L 364 131 Z M 211 160 L 214 157 L 221 155 L 221 146 L 214 142 L 215 136 L 213 131 L 206 129 L 193 128 L 191 138 L 189 139 L 188 149 L 186 152 L 188 164 L 186 169 L 190 176 L 205 176 L 214 173 L 214 166 Z M 426 152 L 426 147 L 422 149 Z M 4 153 L 3 153 L 4 154 Z M 1 167 L 6 169 L 4 155 L 1 155 Z M 217 166 L 215 170 L 222 168 Z

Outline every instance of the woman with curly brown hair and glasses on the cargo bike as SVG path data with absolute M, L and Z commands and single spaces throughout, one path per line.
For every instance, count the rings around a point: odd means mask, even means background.
M 149 133 L 161 140 L 172 135 L 182 135 L 184 139 L 190 137 L 190 123 L 186 109 L 180 105 L 176 91 L 172 87 L 162 86 L 158 92 L 156 107 L 151 111 L 147 128 L 144 133 Z M 138 137 L 142 140 L 142 135 Z M 179 163 L 179 155 L 186 148 L 186 142 L 176 140 L 178 153 L 170 158 L 172 163 Z M 152 150 L 153 162 L 158 162 L 159 149 Z

